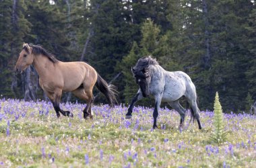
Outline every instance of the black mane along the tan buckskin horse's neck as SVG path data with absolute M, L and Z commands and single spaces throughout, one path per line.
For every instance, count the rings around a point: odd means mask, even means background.
M 34 45 L 34 44 L 28 44 L 28 46 L 32 48 L 32 54 L 35 54 L 35 55 L 42 54 L 48 57 L 49 60 L 51 60 L 51 62 L 53 63 L 59 62 L 59 60 L 57 60 L 57 58 L 53 54 L 48 52 L 46 49 L 42 48 L 42 46 Z M 28 48 L 26 46 L 24 46 L 23 49 L 26 50 L 26 52 L 28 52 Z

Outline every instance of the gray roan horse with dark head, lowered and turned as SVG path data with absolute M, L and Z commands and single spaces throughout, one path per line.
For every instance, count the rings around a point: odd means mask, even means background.
M 191 107 L 191 119 L 197 120 L 199 129 L 201 129 L 199 108 L 197 108 L 197 93 L 195 85 L 192 83 L 189 75 L 181 71 L 169 72 L 165 71 L 151 56 L 140 58 L 135 67 L 131 69 L 136 83 L 139 85 L 139 91 L 133 97 L 131 105 L 128 108 L 126 118 L 131 118 L 133 106 L 139 99 L 153 95 L 155 99 L 155 108 L 153 112 L 154 124 L 156 126 L 156 118 L 160 103 L 167 102 L 174 110 L 181 115 L 180 130 L 182 130 L 185 120 L 186 110 L 179 103 L 181 97 L 187 99 L 187 107 Z

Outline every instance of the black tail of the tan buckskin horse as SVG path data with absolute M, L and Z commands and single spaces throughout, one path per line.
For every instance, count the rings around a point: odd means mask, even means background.
M 109 106 L 112 108 L 115 103 L 117 103 L 117 90 L 115 89 L 114 85 L 108 85 L 100 75 L 97 77 L 96 81 L 96 87 L 100 90 L 101 93 L 103 93 L 106 96 L 106 99 L 108 99 Z

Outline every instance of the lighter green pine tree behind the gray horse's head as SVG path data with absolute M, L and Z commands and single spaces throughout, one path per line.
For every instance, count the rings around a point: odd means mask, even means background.
M 135 83 L 134 77 L 131 73 L 131 67 L 134 67 L 137 60 L 144 56 L 152 55 L 155 58 L 161 58 L 166 54 L 166 36 L 160 36 L 160 28 L 152 22 L 151 19 L 143 22 L 141 26 L 142 39 L 139 45 L 133 42 L 133 47 L 127 56 L 119 64 L 119 69 L 123 72 L 125 89 L 123 95 L 125 102 L 129 103 L 131 98 L 137 93 L 139 87 Z M 162 49 L 162 50 L 160 50 Z M 150 105 L 152 101 L 144 99 L 141 101 L 143 105 Z

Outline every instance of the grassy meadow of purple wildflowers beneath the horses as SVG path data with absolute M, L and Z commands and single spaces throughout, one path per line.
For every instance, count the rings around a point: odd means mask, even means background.
M 61 108 L 74 118 L 57 119 L 51 103 L 0 99 L 0 167 L 255 167 L 256 116 L 224 114 L 227 141 L 210 141 L 213 112 L 201 112 L 196 123 L 179 132 L 180 117 L 164 108 L 159 129 L 152 130 L 151 108 L 93 106 L 84 120 L 84 104 Z

